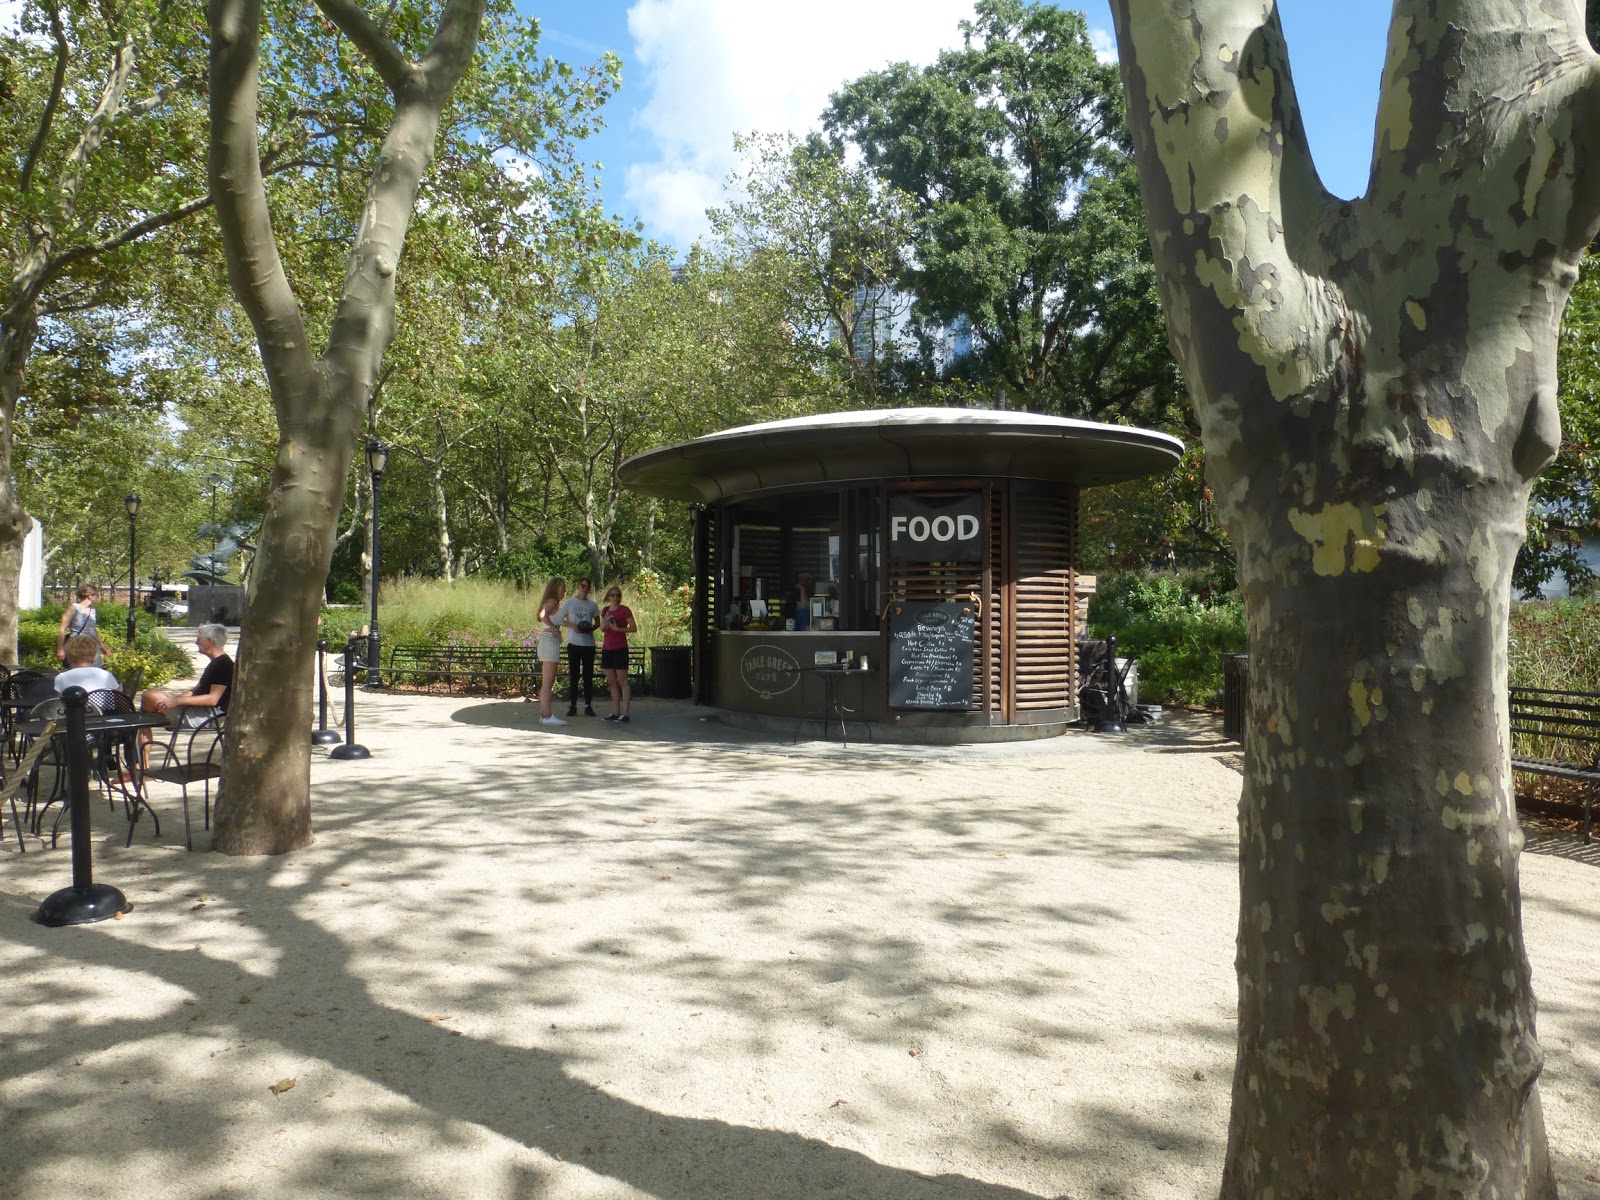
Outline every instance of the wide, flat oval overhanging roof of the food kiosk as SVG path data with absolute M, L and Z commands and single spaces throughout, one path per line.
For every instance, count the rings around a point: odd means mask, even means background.
M 1155 475 L 1184 453 L 1168 434 L 981 408 L 880 408 L 739 426 L 627 459 L 646 496 L 718 501 L 883 478 L 1029 478 L 1091 488 Z

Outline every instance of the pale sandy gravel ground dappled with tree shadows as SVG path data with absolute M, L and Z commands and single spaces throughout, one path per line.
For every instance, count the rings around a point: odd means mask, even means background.
M 603 710 L 603 709 L 602 709 Z M 0 851 L 0 1197 L 1211 1197 L 1234 747 L 787 746 L 362 699 L 317 845 L 98 806 L 118 922 Z M 10 829 L 8 829 L 10 832 Z M 1600 1197 L 1600 853 L 1523 859 L 1563 1195 Z M 293 1086 L 285 1086 L 293 1085 Z M 274 1090 L 278 1088 L 278 1090 Z

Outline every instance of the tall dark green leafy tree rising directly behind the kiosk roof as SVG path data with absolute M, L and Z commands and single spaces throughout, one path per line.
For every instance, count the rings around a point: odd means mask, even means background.
M 962 34 L 824 115 L 914 203 L 901 286 L 923 334 L 965 323 L 957 373 L 1013 406 L 1181 424 L 1117 67 L 1051 5 L 979 0 Z

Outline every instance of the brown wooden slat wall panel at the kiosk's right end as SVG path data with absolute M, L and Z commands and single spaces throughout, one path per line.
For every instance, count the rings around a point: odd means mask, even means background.
M 1016 518 L 1016 707 L 1075 704 L 1074 496 L 1019 493 Z

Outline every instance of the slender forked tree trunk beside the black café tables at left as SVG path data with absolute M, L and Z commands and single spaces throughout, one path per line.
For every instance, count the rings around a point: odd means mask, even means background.
M 440 114 L 472 61 L 483 0 L 446 0 L 438 32 L 406 61 L 357 0 L 318 0 L 389 86 L 394 122 L 366 189 L 344 293 L 312 357 L 283 274 L 256 147 L 261 0 L 210 0 L 211 190 L 234 294 L 250 315 L 278 419 L 258 566 L 240 634 L 218 850 L 278 854 L 309 845 L 312 654 L 317 608 L 382 354 L 394 333 L 395 270 Z

